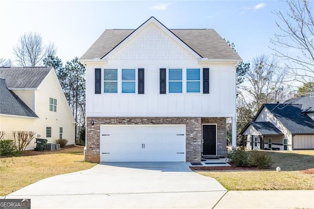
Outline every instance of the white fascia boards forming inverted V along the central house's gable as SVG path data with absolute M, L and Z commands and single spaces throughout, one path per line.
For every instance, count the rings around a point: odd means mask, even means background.
M 166 34 L 168 34 L 171 38 L 177 41 L 177 43 L 182 46 L 186 51 L 193 54 L 197 59 L 202 58 L 201 55 L 199 55 L 197 52 L 192 50 L 186 43 L 184 43 L 178 36 L 176 36 L 173 32 L 171 32 L 166 26 L 162 25 L 160 22 L 158 22 L 154 17 L 151 17 L 148 21 L 146 21 L 143 25 L 139 26 L 137 29 L 135 29 L 126 39 L 124 39 L 119 45 L 117 45 L 114 49 L 112 49 L 110 52 L 108 52 L 103 59 L 107 59 L 111 54 L 118 51 L 121 47 L 123 47 L 125 44 L 127 44 L 134 36 L 136 36 L 143 28 L 150 25 L 151 23 L 154 23 L 157 27 L 159 27 L 161 30 L 163 30 Z

